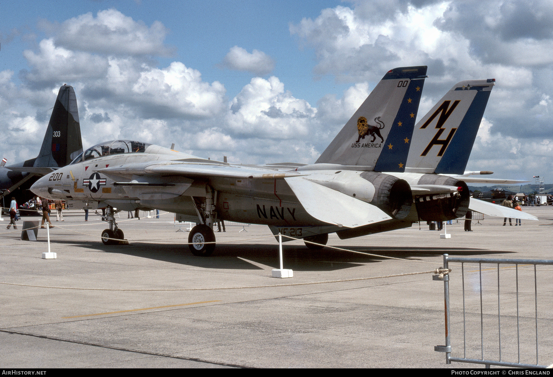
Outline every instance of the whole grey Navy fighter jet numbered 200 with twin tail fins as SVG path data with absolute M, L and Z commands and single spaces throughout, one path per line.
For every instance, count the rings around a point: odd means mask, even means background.
M 212 226 L 218 220 L 266 224 L 273 233 L 325 245 L 328 233 L 351 238 L 421 219 L 462 217 L 472 205 L 465 182 L 436 173 L 464 171 L 493 81 L 454 86 L 415 127 L 425 77 L 426 66 L 388 71 L 315 164 L 229 164 L 113 140 L 87 149 L 32 190 L 107 207 L 105 244 L 124 237 L 116 211 L 145 207 L 182 214 L 200 223 L 189 234 L 189 247 L 201 256 L 215 249 Z M 467 148 L 455 156 L 459 145 Z M 451 161 L 457 157 L 461 162 Z M 521 218 L 519 211 L 505 210 Z

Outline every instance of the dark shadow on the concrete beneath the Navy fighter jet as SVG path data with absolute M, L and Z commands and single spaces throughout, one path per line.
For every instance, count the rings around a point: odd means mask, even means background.
M 39 240 L 39 242 L 46 242 Z M 278 269 L 278 245 L 268 244 L 220 244 L 209 257 L 194 256 L 187 245 L 152 244 L 132 242 L 129 245 L 103 245 L 98 242 L 75 242 L 59 240 L 53 244 L 72 244 L 98 253 L 119 253 L 133 255 L 139 258 L 160 260 L 169 263 L 191 265 L 207 269 L 262 270 L 262 266 Z M 437 248 L 437 247 L 347 247 L 363 255 L 324 248 L 310 250 L 304 245 L 283 245 L 284 268 L 296 271 L 333 271 L 362 266 L 367 263 L 377 263 L 387 260 L 387 257 L 408 260 L 421 260 L 427 257 L 449 255 L 490 255 L 505 254 L 503 250 L 477 248 Z M 53 251 L 55 251 L 53 249 Z M 382 255 L 382 256 L 378 256 Z M 101 258 L 101 256 L 98 256 Z M 262 265 L 262 266 L 258 266 Z

